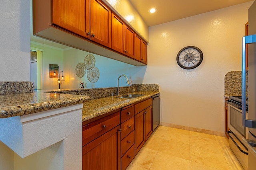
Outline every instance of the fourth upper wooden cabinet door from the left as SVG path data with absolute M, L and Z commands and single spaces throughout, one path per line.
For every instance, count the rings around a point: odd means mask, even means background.
M 125 50 L 126 55 L 134 58 L 134 31 L 125 26 Z

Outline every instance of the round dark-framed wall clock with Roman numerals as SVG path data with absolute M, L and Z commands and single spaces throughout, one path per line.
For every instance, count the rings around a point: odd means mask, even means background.
M 181 68 L 192 69 L 203 61 L 203 53 L 198 47 L 184 47 L 178 52 L 177 63 Z

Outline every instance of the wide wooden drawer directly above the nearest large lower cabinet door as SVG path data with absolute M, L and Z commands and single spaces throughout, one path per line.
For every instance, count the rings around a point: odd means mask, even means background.
M 120 125 L 120 111 L 83 126 L 83 146 Z

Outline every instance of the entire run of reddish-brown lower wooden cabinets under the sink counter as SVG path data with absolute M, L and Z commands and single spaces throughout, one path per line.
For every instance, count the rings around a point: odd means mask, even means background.
M 83 170 L 125 170 L 152 134 L 152 99 L 83 123 Z

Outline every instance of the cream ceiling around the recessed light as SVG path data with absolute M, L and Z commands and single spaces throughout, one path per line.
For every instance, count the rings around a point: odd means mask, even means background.
M 242 4 L 252 0 L 129 0 L 148 26 Z M 156 8 L 150 14 L 148 10 Z

